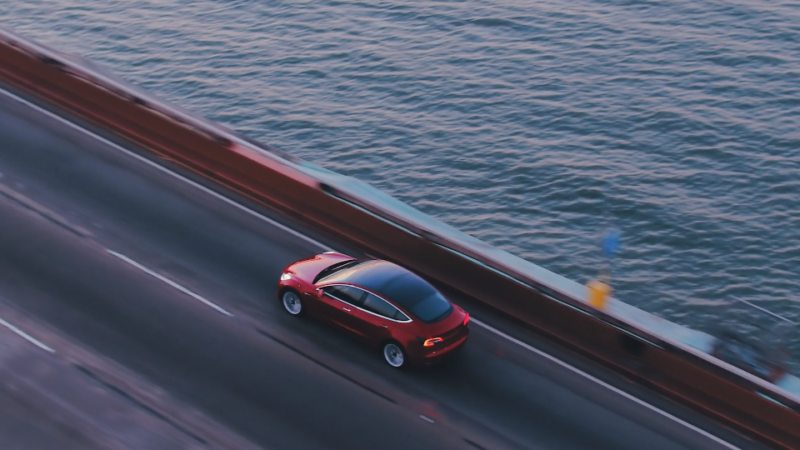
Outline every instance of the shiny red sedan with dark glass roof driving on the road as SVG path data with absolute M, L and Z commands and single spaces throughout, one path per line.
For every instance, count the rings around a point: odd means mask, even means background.
M 392 367 L 428 364 L 464 344 L 469 314 L 428 282 L 388 261 L 327 252 L 290 264 L 278 298 L 383 351 Z

